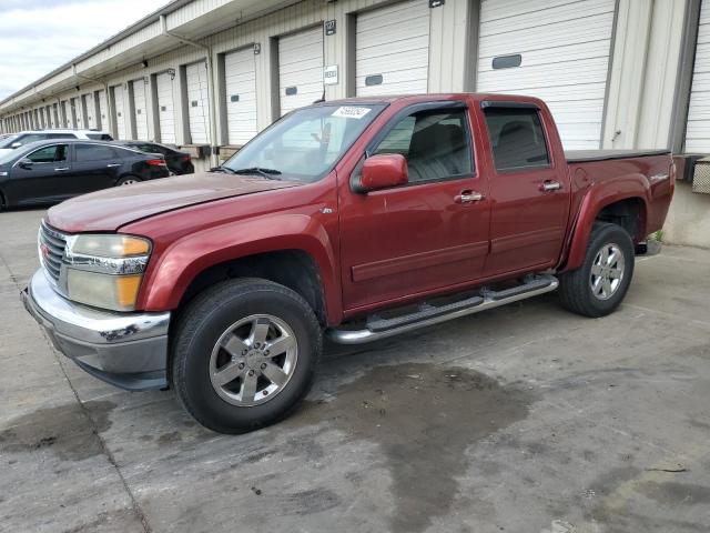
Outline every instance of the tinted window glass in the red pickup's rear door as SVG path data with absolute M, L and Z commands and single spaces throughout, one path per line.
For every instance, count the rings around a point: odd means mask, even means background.
M 540 114 L 536 109 L 487 108 L 485 114 L 496 170 L 535 169 L 550 164 Z

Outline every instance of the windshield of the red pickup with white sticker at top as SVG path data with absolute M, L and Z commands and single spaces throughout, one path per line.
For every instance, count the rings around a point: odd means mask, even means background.
M 315 105 L 256 135 L 222 167 L 311 183 L 326 175 L 384 105 Z M 285 175 L 281 175 L 285 174 Z

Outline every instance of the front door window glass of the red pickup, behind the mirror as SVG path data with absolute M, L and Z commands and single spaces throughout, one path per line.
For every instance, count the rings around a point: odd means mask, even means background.
M 409 181 L 430 181 L 473 173 L 466 112 L 423 111 L 402 119 L 374 153 L 407 159 Z

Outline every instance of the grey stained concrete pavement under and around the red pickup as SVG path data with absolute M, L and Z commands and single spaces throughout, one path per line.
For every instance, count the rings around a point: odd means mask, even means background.
M 295 416 L 224 436 L 53 351 L 19 300 L 42 214 L 0 214 L 0 531 L 710 530 L 710 251 L 640 259 L 605 319 L 328 346 Z

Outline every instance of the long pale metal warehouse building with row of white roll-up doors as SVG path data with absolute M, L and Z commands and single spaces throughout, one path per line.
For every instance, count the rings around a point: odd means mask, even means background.
M 448 91 L 540 97 L 569 149 L 710 153 L 710 0 L 175 0 L 0 102 L 0 128 L 206 168 L 323 95 Z

